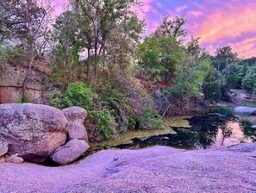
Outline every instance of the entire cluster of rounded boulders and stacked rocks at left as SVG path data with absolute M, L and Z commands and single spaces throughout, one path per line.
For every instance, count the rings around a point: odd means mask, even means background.
M 61 111 L 31 103 L 0 105 L 0 162 L 41 163 L 52 155 L 60 165 L 71 163 L 89 149 L 85 117 L 86 110 L 79 107 Z

